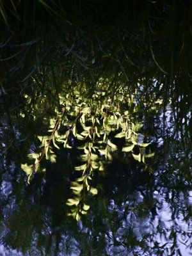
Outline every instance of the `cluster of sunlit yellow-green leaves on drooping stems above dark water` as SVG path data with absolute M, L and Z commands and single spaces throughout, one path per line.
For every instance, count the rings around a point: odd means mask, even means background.
M 47 135 L 38 136 L 41 152 L 28 155 L 33 164 L 21 165 L 29 175 L 28 183 L 33 172 L 41 170 L 44 159 L 56 163 L 56 150 L 76 147 L 79 164 L 74 169 L 81 172 L 81 177 L 71 182 L 74 197 L 68 199 L 67 205 L 71 207 L 70 215 L 79 220 L 81 214 L 87 212 L 87 207 L 83 208 L 86 194 L 98 193 L 92 186 L 94 172 L 103 171 L 104 164 L 110 163 L 114 154 L 122 151 L 124 156 L 133 157 L 147 169 L 145 159 L 154 153 L 147 154 L 145 150 L 150 142 L 141 136 L 143 124 L 136 95 L 137 92 L 129 95 L 123 90 L 113 95 L 113 99 L 105 92 L 95 92 L 91 99 L 87 99 L 78 90 L 74 98 L 70 94 L 59 95 L 62 111 L 55 111 L 58 113 L 56 119 L 49 118 Z M 121 147 L 120 141 L 124 141 Z M 138 154 L 135 154 L 135 148 L 139 148 Z

